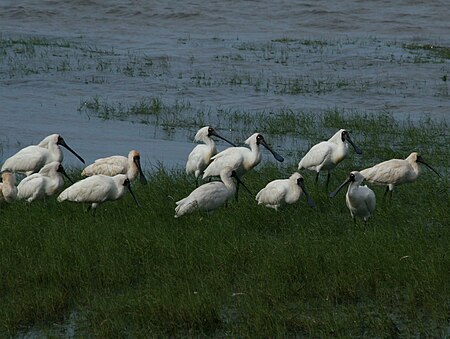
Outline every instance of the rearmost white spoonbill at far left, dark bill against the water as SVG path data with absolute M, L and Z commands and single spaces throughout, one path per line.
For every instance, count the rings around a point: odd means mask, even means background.
M 46 164 L 52 161 L 62 162 L 63 153 L 59 146 L 64 146 L 72 152 L 82 163 L 81 158 L 70 148 L 59 134 L 51 134 L 44 138 L 38 145 L 30 145 L 22 148 L 16 154 L 5 160 L 2 171 L 22 172 L 26 175 L 37 173 Z

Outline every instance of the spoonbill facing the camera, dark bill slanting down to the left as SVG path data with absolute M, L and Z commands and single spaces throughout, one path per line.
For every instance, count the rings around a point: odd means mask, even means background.
M 330 194 L 330 198 L 333 198 L 345 185 L 350 184 L 345 195 L 345 203 L 355 223 L 356 217 L 364 219 L 364 223 L 367 223 L 376 205 L 375 193 L 367 185 L 361 186 L 363 181 L 364 177 L 362 174 L 358 171 L 353 171 L 348 176 L 348 179 Z

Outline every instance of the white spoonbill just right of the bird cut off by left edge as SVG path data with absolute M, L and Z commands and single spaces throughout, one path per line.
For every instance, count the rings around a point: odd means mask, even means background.
M 25 177 L 17 186 L 17 198 L 32 202 L 59 193 L 64 186 L 63 175 L 71 182 L 59 161 L 53 161 L 38 173 Z

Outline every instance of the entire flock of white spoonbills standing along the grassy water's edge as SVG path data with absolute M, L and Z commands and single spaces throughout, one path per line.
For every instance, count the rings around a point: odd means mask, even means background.
M 217 152 L 212 137 L 218 137 L 232 147 Z M 194 141 L 202 143 L 189 154 L 186 174 L 195 177 L 197 187 L 187 197 L 176 202 L 175 218 L 196 210 L 212 211 L 223 206 L 233 196 L 237 199 L 240 185 L 250 192 L 241 178 L 261 162 L 261 145 L 269 150 L 277 161 L 284 161 L 260 133 L 254 133 L 245 140 L 248 147 L 237 147 L 220 136 L 214 128 L 206 126 L 197 132 Z M 300 160 L 298 170 L 315 171 L 316 182 L 319 173 L 326 171 L 328 187 L 330 173 L 346 158 L 349 144 L 353 146 L 356 153 L 362 153 L 347 130 L 337 131 L 327 141 L 312 146 Z M 37 199 L 59 194 L 58 202 L 88 203 L 88 209 L 92 208 L 95 211 L 99 204 L 117 200 L 128 190 L 136 204 L 140 206 L 130 185 L 138 176 L 141 183 L 147 183 L 138 151 L 131 150 L 128 157 L 115 155 L 97 159 L 83 169 L 82 175 L 86 178 L 74 183 L 61 165 L 63 153 L 60 146 L 68 149 L 85 163 L 60 135 L 49 135 L 38 145 L 25 147 L 5 160 L 1 168 L 0 203 L 12 203 L 16 199 L 31 203 Z M 394 186 L 416 180 L 420 172 L 420 163 L 439 175 L 418 153 L 413 152 L 406 159 L 391 159 L 359 172 L 352 171 L 347 180 L 331 193 L 330 197 L 336 196 L 344 186 L 349 185 L 346 205 L 350 214 L 355 221 L 356 217 L 359 217 L 367 222 L 375 210 L 376 197 L 367 185 L 362 186 L 363 181 L 386 185 L 386 193 L 389 192 L 392 195 Z M 18 185 L 16 185 L 16 173 L 25 175 Z M 63 176 L 67 177 L 71 185 L 61 192 L 64 186 Z M 220 180 L 211 181 L 213 177 L 220 177 Z M 209 182 L 198 185 L 199 179 L 208 178 Z M 314 201 L 305 189 L 304 178 L 300 173 L 294 172 L 287 179 L 269 182 L 256 194 L 256 200 L 260 205 L 277 210 L 284 205 L 296 203 L 303 195 L 307 198 L 308 205 L 313 207 Z

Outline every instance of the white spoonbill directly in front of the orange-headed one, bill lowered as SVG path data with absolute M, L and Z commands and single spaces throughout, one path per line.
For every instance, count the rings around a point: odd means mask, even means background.
M 96 174 L 87 177 L 62 191 L 57 200 L 89 203 L 88 210 L 92 208 L 95 212 L 101 203 L 120 199 L 125 194 L 125 189 L 128 189 L 136 204 L 140 206 L 131 190 L 130 179 L 125 174 L 113 177 Z

